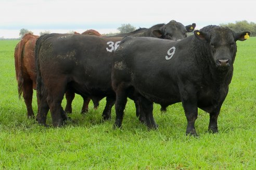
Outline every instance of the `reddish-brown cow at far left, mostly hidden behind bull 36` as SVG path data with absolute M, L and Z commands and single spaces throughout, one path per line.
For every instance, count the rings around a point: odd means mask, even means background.
M 34 112 L 32 109 L 32 97 L 33 89 L 36 90 L 36 68 L 35 68 L 35 43 L 39 36 L 33 34 L 26 34 L 19 41 L 15 48 L 15 70 L 16 79 L 18 82 L 18 93 L 19 98 L 23 93 L 23 98 L 25 105 L 27 106 L 28 118 L 34 117 Z M 67 105 L 66 112 L 72 112 L 72 101 L 74 99 L 74 92 L 67 90 L 66 92 Z M 84 103 L 82 107 L 82 112 L 88 111 L 88 104 L 90 99 L 83 97 Z M 37 105 L 39 105 L 37 103 Z M 94 104 L 97 107 L 98 104 Z

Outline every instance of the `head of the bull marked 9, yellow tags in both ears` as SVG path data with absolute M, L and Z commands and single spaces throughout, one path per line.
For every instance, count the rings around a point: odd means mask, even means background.
M 208 53 L 216 67 L 228 68 L 234 63 L 236 55 L 236 41 L 244 41 L 250 32 L 235 33 L 227 27 L 215 26 L 208 32 L 194 31 L 196 38 L 207 42 Z

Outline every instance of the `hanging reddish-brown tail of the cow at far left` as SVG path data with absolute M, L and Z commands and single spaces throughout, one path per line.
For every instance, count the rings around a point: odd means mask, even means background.
M 16 79 L 18 82 L 18 93 L 19 98 L 21 98 L 21 94 L 23 93 L 23 75 L 22 75 L 22 53 L 25 43 L 30 39 L 30 36 L 24 35 L 23 38 L 16 45 L 14 58 L 15 58 L 15 71 L 16 71 Z

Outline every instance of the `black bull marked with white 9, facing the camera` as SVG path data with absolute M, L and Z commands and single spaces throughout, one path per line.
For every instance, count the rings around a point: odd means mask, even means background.
M 153 102 L 163 106 L 182 102 L 186 134 L 197 135 L 198 107 L 210 113 L 209 131 L 217 132 L 217 117 L 233 75 L 236 41 L 249 35 L 210 25 L 180 41 L 124 38 L 112 63 L 117 114 L 114 126 L 121 127 L 128 96 L 139 99 L 149 129 L 157 128 Z

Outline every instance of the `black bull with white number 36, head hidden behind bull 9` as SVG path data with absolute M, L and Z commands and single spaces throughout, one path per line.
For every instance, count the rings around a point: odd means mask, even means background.
M 36 41 L 37 121 L 46 124 L 50 109 L 53 125 L 67 116 L 61 101 L 67 89 L 97 103 L 106 96 L 104 119 L 110 119 L 116 95 L 111 87 L 112 53 L 122 38 L 102 38 L 77 34 L 45 34 Z

